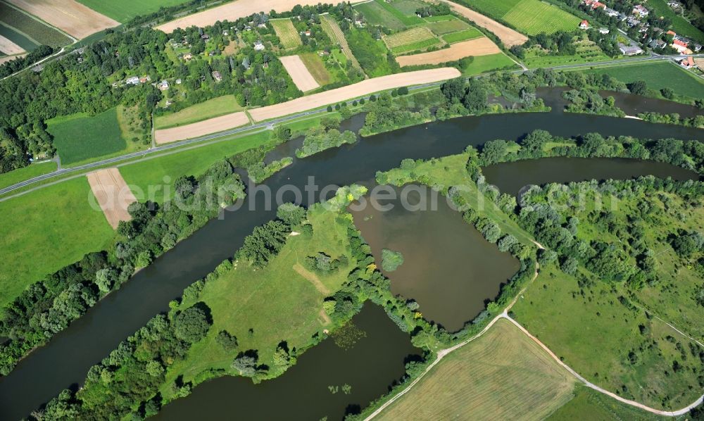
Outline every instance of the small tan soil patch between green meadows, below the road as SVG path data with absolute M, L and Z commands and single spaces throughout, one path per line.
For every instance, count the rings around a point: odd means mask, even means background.
M 132 219 L 130 213 L 127 212 L 127 207 L 137 199 L 117 168 L 89 172 L 86 177 L 108 224 L 113 227 L 113 230 L 118 228 L 120 221 Z

